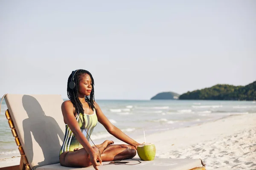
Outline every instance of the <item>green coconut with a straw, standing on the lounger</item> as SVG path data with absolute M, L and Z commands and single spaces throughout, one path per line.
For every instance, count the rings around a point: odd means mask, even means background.
M 152 143 L 143 143 L 137 146 L 137 153 L 141 160 L 152 161 L 156 155 L 156 147 Z

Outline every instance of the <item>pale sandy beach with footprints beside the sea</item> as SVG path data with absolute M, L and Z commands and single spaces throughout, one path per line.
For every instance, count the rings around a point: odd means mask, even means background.
M 143 143 L 144 136 L 135 140 Z M 146 136 L 146 142 L 155 144 L 158 158 L 202 159 L 207 170 L 218 167 L 256 170 L 256 114 L 228 116 L 151 134 Z M 1 158 L 0 167 L 19 164 L 19 161 L 20 157 Z

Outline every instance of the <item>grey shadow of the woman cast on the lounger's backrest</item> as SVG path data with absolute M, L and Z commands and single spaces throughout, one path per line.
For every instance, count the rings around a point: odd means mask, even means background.
M 58 156 L 61 149 L 58 136 L 63 140 L 63 131 L 54 118 L 45 115 L 37 99 L 29 95 L 24 95 L 22 97 L 22 103 L 23 108 L 29 116 L 29 118 L 23 120 L 23 130 L 24 142 L 31 158 L 30 161 L 33 160 L 34 155 L 37 155 L 37 153 L 33 153 L 33 136 L 44 154 L 44 161 L 38 162 L 38 165 L 43 166 L 45 164 L 58 163 Z

